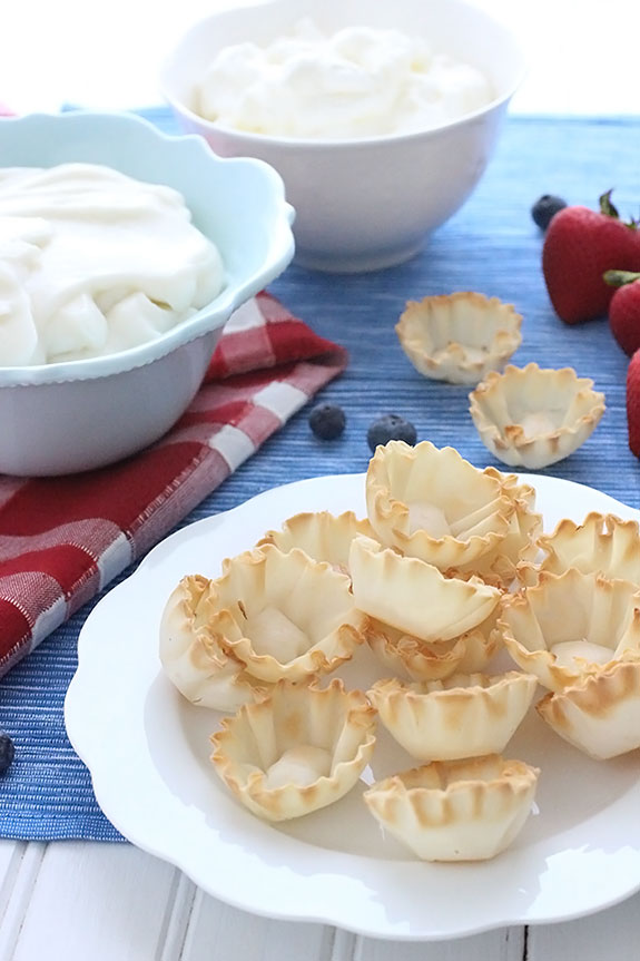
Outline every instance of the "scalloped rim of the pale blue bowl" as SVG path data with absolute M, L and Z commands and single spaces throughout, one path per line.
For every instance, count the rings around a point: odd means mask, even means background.
M 199 134 L 165 133 L 145 117 L 126 111 L 69 110 L 62 114 L 38 112 L 19 117 L 1 116 L 0 140 L 2 131 L 10 127 L 32 126 L 46 129 L 47 127 L 71 127 L 73 125 L 78 127 L 101 125 L 105 129 L 138 127 L 147 131 L 146 136 L 167 145 L 170 150 L 177 149 L 183 153 L 189 150 L 191 154 L 200 155 L 213 165 L 242 166 L 258 170 L 266 188 L 276 200 L 276 229 L 274 231 L 273 243 L 259 268 L 254 269 L 253 273 L 247 273 L 246 277 L 236 285 L 223 286 L 209 304 L 155 340 L 97 357 L 16 366 L 0 364 L 0 388 L 95 380 L 154 363 L 154 361 L 160 360 L 178 347 L 221 327 L 235 310 L 275 280 L 293 259 L 295 245 L 292 224 L 295 212 L 285 199 L 284 182 L 279 174 L 266 161 L 253 157 L 219 157 Z M 41 164 L 40 166 L 47 165 Z M 223 268 L 224 266 L 223 262 Z

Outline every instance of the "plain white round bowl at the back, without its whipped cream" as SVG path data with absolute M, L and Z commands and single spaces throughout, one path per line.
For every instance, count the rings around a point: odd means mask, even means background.
M 218 50 L 243 40 L 268 43 L 304 17 L 327 33 L 367 26 L 422 35 L 433 49 L 484 71 L 495 97 L 484 109 L 433 130 L 362 140 L 252 135 L 191 109 L 194 88 Z M 470 196 L 523 69 L 516 39 L 464 0 L 269 0 L 193 26 L 164 65 L 161 86 L 184 129 L 201 134 L 221 156 L 259 157 L 282 174 L 296 209 L 299 264 L 355 272 L 413 256 Z

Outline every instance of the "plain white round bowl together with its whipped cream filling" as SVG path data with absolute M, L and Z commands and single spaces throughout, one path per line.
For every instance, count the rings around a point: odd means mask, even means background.
M 193 24 L 160 84 L 183 129 L 280 174 L 299 265 L 353 273 L 417 255 L 467 199 L 523 69 L 467 0 L 268 0 Z

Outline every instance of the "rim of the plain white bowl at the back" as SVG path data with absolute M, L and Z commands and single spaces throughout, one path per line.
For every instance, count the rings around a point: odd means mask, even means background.
M 424 130 L 410 130 L 395 134 L 378 134 L 375 136 L 353 138 L 311 138 L 274 136 L 269 134 L 240 130 L 225 124 L 218 124 L 215 120 L 208 120 L 206 117 L 203 117 L 200 114 L 197 114 L 195 110 L 193 110 L 191 107 L 189 107 L 180 97 L 175 94 L 175 91 L 171 89 L 170 82 L 171 69 L 177 62 L 178 55 L 183 50 L 183 47 L 190 38 L 196 36 L 204 28 L 208 28 L 210 24 L 226 18 L 232 18 L 238 14 L 250 16 L 254 11 L 263 10 L 265 6 L 278 6 L 286 2 L 287 0 L 255 0 L 255 2 L 254 0 L 244 0 L 244 2 L 242 2 L 237 7 L 225 7 L 217 12 L 209 13 L 206 17 L 201 17 L 199 20 L 191 23 L 191 26 L 181 33 L 177 42 L 174 45 L 173 50 L 165 57 L 160 65 L 159 88 L 163 97 L 165 98 L 165 101 L 176 111 L 176 114 L 186 117 L 191 124 L 198 125 L 203 130 L 206 130 L 209 134 L 218 134 L 227 137 L 229 140 L 234 139 L 239 147 L 242 147 L 243 145 L 248 146 L 249 144 L 259 144 L 260 146 L 264 146 L 266 148 L 296 148 L 308 150 L 309 153 L 313 150 L 323 150 L 327 148 L 331 148 L 332 150 L 368 149 L 372 146 L 380 147 L 398 143 L 411 143 L 419 139 L 431 139 L 432 137 L 439 136 L 444 130 L 450 130 L 455 127 L 463 127 L 470 125 L 473 121 L 477 120 L 480 117 L 484 117 L 493 112 L 494 110 L 499 110 L 501 107 L 508 104 L 518 90 L 518 88 L 523 82 L 524 77 L 529 71 L 524 45 L 513 29 L 511 29 L 506 23 L 504 23 L 499 17 L 495 17 L 483 8 L 477 7 L 475 3 L 470 2 L 470 0 L 453 0 L 453 2 L 460 8 L 472 9 L 480 17 L 484 18 L 486 22 L 490 22 L 493 26 L 499 27 L 501 30 L 503 30 L 504 35 L 512 43 L 513 49 L 516 51 L 520 67 L 514 71 L 514 79 L 502 94 L 493 97 L 484 106 L 479 107 L 477 109 L 472 110 L 469 114 L 464 114 L 462 117 L 455 117 L 444 124 L 439 124 L 439 126 L 436 127 L 429 127 Z M 447 0 L 447 2 L 451 2 L 451 0 Z

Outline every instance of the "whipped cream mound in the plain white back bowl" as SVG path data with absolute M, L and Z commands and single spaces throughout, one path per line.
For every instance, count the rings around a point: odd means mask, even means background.
M 305 18 L 270 43 L 224 47 L 191 104 L 236 130 L 342 140 L 441 127 L 493 97 L 484 72 L 425 37 L 357 26 L 326 33 Z

